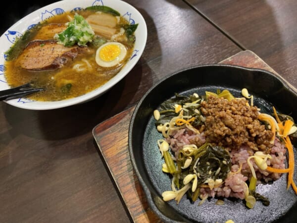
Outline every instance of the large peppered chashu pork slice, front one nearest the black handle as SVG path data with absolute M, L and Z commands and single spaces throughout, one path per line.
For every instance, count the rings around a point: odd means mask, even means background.
M 28 43 L 16 64 L 32 71 L 54 70 L 85 51 L 89 49 L 79 46 L 65 47 L 55 40 L 34 40 Z

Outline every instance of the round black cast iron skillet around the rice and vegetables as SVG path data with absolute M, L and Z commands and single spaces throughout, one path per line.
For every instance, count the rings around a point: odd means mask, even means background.
M 254 105 L 262 112 L 270 113 L 273 104 L 278 111 L 297 120 L 297 92 L 293 87 L 271 72 L 233 65 L 201 65 L 170 74 L 150 88 L 138 103 L 129 127 L 130 157 L 150 208 L 163 222 L 225 223 L 229 219 L 235 223 L 296 222 L 297 195 L 292 188 L 286 190 L 287 174 L 273 184 L 257 186 L 257 192 L 269 198 L 268 207 L 256 202 L 254 209 L 249 210 L 239 199 L 224 199 L 225 204 L 220 206 L 215 205 L 216 198 L 201 206 L 198 201 L 191 203 L 186 196 L 178 205 L 174 200 L 162 200 L 162 192 L 171 190 L 171 180 L 161 170 L 164 161 L 156 142 L 162 135 L 155 128 L 153 111 L 175 93 L 204 95 L 206 90 L 228 89 L 240 97 L 242 88 L 254 96 Z

